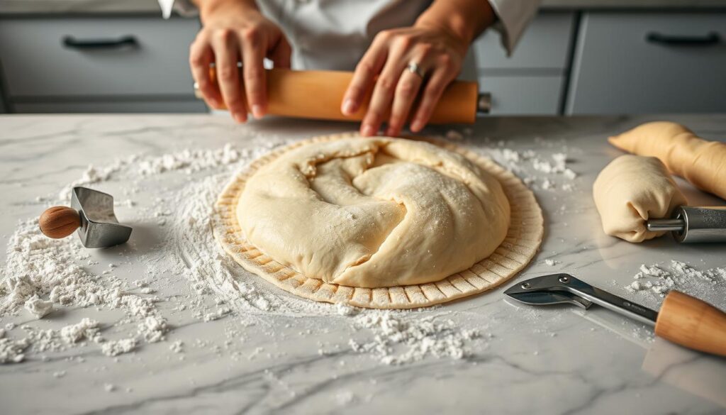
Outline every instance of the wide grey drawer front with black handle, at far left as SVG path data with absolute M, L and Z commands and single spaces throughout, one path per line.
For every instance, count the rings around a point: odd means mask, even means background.
M 7 94 L 11 98 L 191 95 L 188 54 L 197 30 L 197 20 L 181 18 L 0 20 L 0 62 Z M 70 39 L 70 46 L 64 39 Z M 126 42 L 95 48 L 82 44 L 122 39 Z

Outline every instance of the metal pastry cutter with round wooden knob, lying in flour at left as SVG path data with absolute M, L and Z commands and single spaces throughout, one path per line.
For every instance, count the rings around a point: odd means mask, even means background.
M 121 225 L 113 213 L 113 196 L 89 188 L 73 188 L 70 207 L 53 206 L 38 219 L 49 238 L 65 238 L 78 230 L 86 248 L 105 248 L 129 241 L 131 227 Z

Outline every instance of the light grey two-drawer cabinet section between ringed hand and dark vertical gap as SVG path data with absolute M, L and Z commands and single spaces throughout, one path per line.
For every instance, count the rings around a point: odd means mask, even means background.
M 538 15 L 510 57 L 494 31 L 476 41 L 479 88 L 492 93 L 492 114 L 559 112 L 574 22 L 574 12 Z

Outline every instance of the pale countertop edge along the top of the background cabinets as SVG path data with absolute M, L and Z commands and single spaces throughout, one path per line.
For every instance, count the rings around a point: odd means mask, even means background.
M 724 9 L 726 0 L 542 0 L 542 9 Z M 2 0 L 0 14 L 161 14 L 155 0 Z

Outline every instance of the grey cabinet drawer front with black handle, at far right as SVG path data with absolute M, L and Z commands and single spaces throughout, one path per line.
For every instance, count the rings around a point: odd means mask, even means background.
M 726 110 L 726 14 L 588 13 L 567 113 Z

